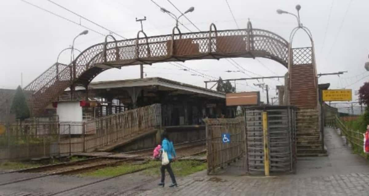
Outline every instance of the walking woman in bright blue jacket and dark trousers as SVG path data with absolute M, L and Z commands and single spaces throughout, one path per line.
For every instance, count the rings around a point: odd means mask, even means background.
M 159 186 L 164 187 L 164 179 L 165 179 L 165 169 L 168 171 L 170 178 L 172 179 L 172 184 L 169 185 L 169 187 L 177 186 L 176 178 L 173 174 L 172 167 L 170 167 L 170 163 L 176 158 L 176 151 L 173 147 L 173 142 L 169 141 L 168 133 L 163 132 L 162 133 L 162 150 L 164 150 L 168 154 L 169 164 L 168 165 L 162 165 L 160 168 L 162 178 L 161 182 L 159 183 Z

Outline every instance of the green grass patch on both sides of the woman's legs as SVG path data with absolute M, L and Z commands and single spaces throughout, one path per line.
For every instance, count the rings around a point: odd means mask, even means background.
M 175 161 L 171 163 L 171 167 L 175 176 L 186 176 L 206 169 L 206 162 L 193 160 Z M 144 173 L 146 175 L 159 175 L 160 165 L 156 168 L 147 169 Z

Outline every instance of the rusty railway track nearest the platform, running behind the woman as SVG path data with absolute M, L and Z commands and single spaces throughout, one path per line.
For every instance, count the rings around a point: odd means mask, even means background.
M 176 145 L 177 146 L 177 154 L 184 154 L 182 157 L 190 156 L 190 155 L 196 155 L 199 153 L 202 153 L 201 149 L 204 149 L 204 144 L 193 144 L 193 143 L 186 143 L 182 145 Z M 129 154 L 135 153 L 134 151 L 129 152 Z M 72 162 L 63 162 L 59 164 L 52 164 L 52 165 L 45 165 L 41 167 L 35 167 L 35 168 L 28 168 L 28 169 L 21 169 L 17 171 L 11 171 L 7 173 L 2 174 L 10 174 L 15 172 L 41 172 L 42 175 L 39 176 L 32 176 L 28 178 L 18 178 L 10 182 L 1 183 L 0 186 L 3 185 L 9 185 L 17 182 L 23 182 L 23 181 L 29 181 L 32 179 L 37 178 L 43 178 L 46 176 L 51 175 L 66 175 L 66 174 L 77 174 L 81 172 L 90 171 L 93 169 L 100 169 L 104 167 L 109 166 L 116 166 L 120 165 L 124 162 L 132 162 L 137 160 L 145 160 L 151 158 L 152 155 L 152 149 L 147 150 L 140 150 L 136 151 L 135 156 L 130 158 L 123 158 L 123 159 L 116 159 L 113 157 L 94 157 L 94 158 L 88 158 L 85 160 L 79 160 L 79 161 L 72 161 Z M 144 168 L 148 169 L 148 168 Z M 139 169 L 138 171 L 144 170 Z M 134 171 L 134 172 L 138 172 Z M 0 175 L 2 175 L 0 174 Z

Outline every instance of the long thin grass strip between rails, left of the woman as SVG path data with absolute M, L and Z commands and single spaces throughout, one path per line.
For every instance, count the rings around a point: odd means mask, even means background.
M 148 161 L 144 164 L 124 163 L 116 167 L 106 167 L 102 169 L 97 169 L 95 171 L 86 172 L 86 173 L 80 174 L 80 176 L 110 177 L 110 176 L 128 174 L 130 172 L 134 172 L 139 169 L 144 169 L 148 167 L 159 167 L 160 164 L 161 163 L 159 161 Z

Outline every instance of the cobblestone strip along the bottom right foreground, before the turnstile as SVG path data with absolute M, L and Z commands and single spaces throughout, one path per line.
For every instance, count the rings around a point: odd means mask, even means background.
M 250 176 L 194 176 L 186 178 L 177 188 L 156 188 L 139 194 L 198 196 L 344 196 L 369 195 L 369 174 L 333 175 L 327 177 L 289 178 Z

